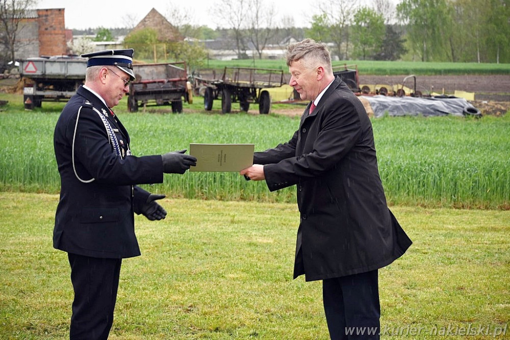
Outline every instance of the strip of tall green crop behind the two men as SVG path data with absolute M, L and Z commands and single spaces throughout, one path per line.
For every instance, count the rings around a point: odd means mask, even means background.
M 18 98 L 19 99 L 19 98 Z M 15 99 L 16 100 L 16 99 Z M 299 117 L 274 114 L 116 112 L 130 132 L 135 155 L 161 154 L 190 143 L 254 143 L 256 150 L 286 142 Z M 215 102 L 219 106 L 219 102 Z M 53 129 L 63 103 L 0 113 L 0 190 L 56 193 L 60 188 Z M 200 107 L 200 103 L 193 104 Z M 187 107 L 184 108 L 186 112 Z M 510 208 L 510 116 L 385 117 L 372 119 L 379 172 L 390 204 Z M 150 188 L 169 197 L 294 202 L 293 187 L 269 193 L 264 182 L 238 173 L 165 175 Z

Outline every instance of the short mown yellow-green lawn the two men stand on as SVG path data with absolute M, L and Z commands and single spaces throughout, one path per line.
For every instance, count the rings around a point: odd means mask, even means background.
M 52 248 L 57 202 L 0 193 L 0 339 L 68 337 L 70 270 Z M 292 279 L 296 204 L 162 204 L 164 221 L 136 217 L 142 256 L 123 261 L 111 339 L 328 338 L 320 281 Z M 482 334 L 455 338 L 502 332 L 510 319 L 510 211 L 392 211 L 414 244 L 379 272 L 382 331 L 406 339 L 446 339 L 430 332 L 468 327 Z

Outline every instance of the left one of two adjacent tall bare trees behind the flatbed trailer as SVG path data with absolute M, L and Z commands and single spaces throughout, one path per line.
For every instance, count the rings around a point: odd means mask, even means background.
M 219 19 L 219 26 L 227 24 L 234 32 L 238 57 L 246 54 L 246 42 L 243 29 L 247 27 L 249 0 L 217 0 L 211 12 Z

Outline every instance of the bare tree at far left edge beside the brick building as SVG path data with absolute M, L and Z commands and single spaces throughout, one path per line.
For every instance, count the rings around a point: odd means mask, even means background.
M 36 0 L 0 0 L 0 44 L 4 58 L 14 60 L 16 35 L 22 28 L 20 22 L 27 17 L 27 11 L 35 8 Z

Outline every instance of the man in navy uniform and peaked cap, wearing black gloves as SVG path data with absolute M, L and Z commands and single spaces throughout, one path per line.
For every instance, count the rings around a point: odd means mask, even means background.
M 88 57 L 85 85 L 57 121 L 54 147 L 61 178 L 53 245 L 68 253 L 74 289 L 70 339 L 107 339 L 113 322 L 122 258 L 140 255 L 134 213 L 161 220 L 165 209 L 137 184 L 184 174 L 196 158 L 181 150 L 136 157 L 130 136 L 111 108 L 135 79 L 133 49 Z

